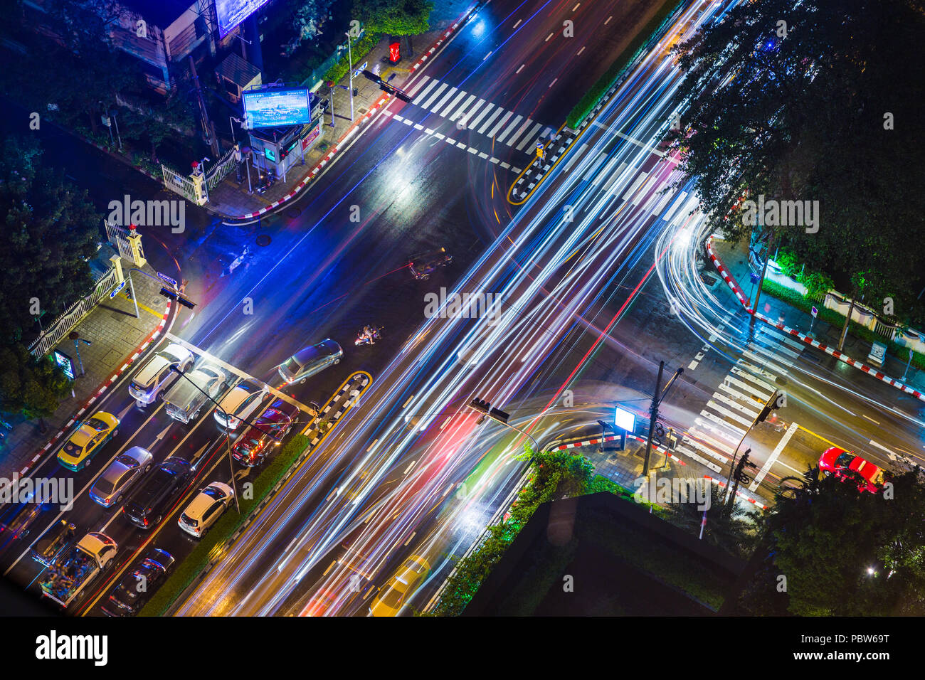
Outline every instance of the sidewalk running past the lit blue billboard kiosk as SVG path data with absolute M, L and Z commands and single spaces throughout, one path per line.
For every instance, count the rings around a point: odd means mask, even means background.
M 458 31 L 465 23 L 465 19 L 475 11 L 477 4 L 473 0 L 442 0 L 435 3 L 431 13 L 430 25 L 432 29 L 421 35 L 413 36 L 414 54 L 405 56 L 399 64 L 392 67 L 388 64 L 388 40 L 383 39 L 366 56 L 354 54 L 354 59 L 360 65 L 369 64 L 372 70 L 378 64 L 382 67 L 380 76 L 388 80 L 392 74 L 395 77 L 389 81 L 399 89 L 413 73 L 421 68 L 424 62 L 435 51 L 436 43 L 441 45 L 449 39 L 452 32 Z M 455 28 L 453 28 L 455 26 Z M 448 34 L 449 33 L 449 34 Z M 404 43 L 402 42 L 402 49 Z M 296 198 L 311 184 L 323 167 L 326 167 L 332 158 L 337 155 L 363 125 L 385 101 L 385 93 L 379 90 L 378 85 L 363 76 L 353 79 L 353 87 L 357 95 L 353 97 L 353 120 L 350 117 L 351 97 L 349 92 L 349 76 L 344 76 L 333 88 L 333 109 L 329 106 L 324 115 L 321 126 L 321 140 L 309 150 L 304 162 L 290 168 L 286 179 L 278 178 L 277 182 L 263 194 L 248 193 L 247 176 L 242 168 L 241 181 L 238 182 L 236 173 L 232 172 L 215 189 L 209 192 L 209 202 L 203 207 L 225 219 L 253 219 L 268 211 L 275 210 Z M 317 93 L 322 99 L 330 99 L 330 89 L 323 85 Z M 252 187 L 257 183 L 257 173 L 251 168 Z

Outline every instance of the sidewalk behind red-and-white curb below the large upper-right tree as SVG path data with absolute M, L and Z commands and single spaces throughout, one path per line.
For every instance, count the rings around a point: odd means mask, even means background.
M 738 282 L 746 300 L 749 301 L 749 303 L 753 301 L 755 299 L 755 288 L 757 284 L 753 283 L 749 277 L 752 270 L 748 265 L 747 243 L 745 241 L 731 243 L 729 241 L 714 239 L 712 241 L 712 247 L 717 258 L 722 262 L 722 266 L 724 266 L 735 281 Z M 712 267 L 710 266 L 709 268 Z M 729 291 L 728 287 L 722 284 L 722 281 L 721 286 L 722 289 Z M 718 287 L 715 290 L 719 291 L 720 288 Z M 730 309 L 734 309 L 732 305 L 742 306 L 742 303 L 735 298 L 732 291 L 729 291 L 729 300 L 731 305 Z M 819 306 L 820 305 L 817 305 L 817 307 Z M 796 307 L 787 303 L 783 303 L 770 295 L 767 291 L 761 292 L 759 309 L 757 311 L 759 314 L 769 317 L 772 322 L 776 322 L 787 328 L 793 328 L 801 334 L 808 333 L 811 327 L 813 340 L 830 348 L 838 346 L 838 340 L 842 335 L 841 326 L 833 326 L 823 321 L 821 318 L 817 318 L 815 323 L 813 323 L 812 315 L 796 309 Z M 848 334 L 845 337 L 845 346 L 842 349 L 842 353 L 849 357 L 853 357 L 857 363 L 863 363 L 869 352 L 870 340 L 857 338 L 851 334 L 849 328 Z M 906 362 L 888 353 L 882 367 L 878 370 L 885 376 L 891 376 L 898 380 L 906 371 Z M 925 392 L 925 372 L 920 371 L 914 366 L 909 367 L 906 380 L 903 382 L 911 389 Z

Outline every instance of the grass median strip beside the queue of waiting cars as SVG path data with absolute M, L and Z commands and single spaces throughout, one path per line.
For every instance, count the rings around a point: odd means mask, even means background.
M 229 508 L 222 515 L 221 519 L 209 529 L 209 532 L 200 539 L 199 544 L 186 556 L 186 559 L 179 561 L 173 574 L 167 578 L 163 586 L 158 588 L 154 597 L 144 605 L 142 611 L 138 613 L 139 616 L 161 616 L 169 609 L 174 600 L 179 598 L 180 593 L 203 572 L 212 558 L 225 550 L 225 544 L 231 535 L 238 530 L 253 509 L 289 471 L 292 464 L 302 455 L 302 451 L 308 447 L 309 441 L 310 439 L 304 435 L 296 435 L 283 446 L 282 451 L 279 451 L 265 470 L 253 480 L 253 498 L 240 499 L 240 514 L 236 513 L 234 508 Z

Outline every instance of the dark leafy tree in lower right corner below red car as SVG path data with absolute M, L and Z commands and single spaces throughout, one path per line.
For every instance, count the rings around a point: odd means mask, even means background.
M 800 616 L 925 613 L 919 469 L 894 476 L 890 494 L 861 493 L 834 477 L 817 481 L 814 472 L 759 519 L 766 568 L 743 592 L 743 608 L 776 611 L 785 602 Z

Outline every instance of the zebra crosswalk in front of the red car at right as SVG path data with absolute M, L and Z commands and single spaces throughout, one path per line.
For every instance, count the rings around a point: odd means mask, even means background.
M 788 366 L 802 351 L 803 345 L 775 328 L 760 328 L 694 419 L 677 450 L 694 460 L 708 456 L 722 464 L 730 463 L 748 426 L 776 389 L 776 379 L 787 375 Z

